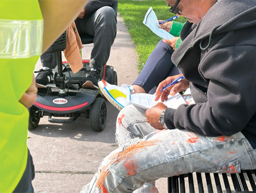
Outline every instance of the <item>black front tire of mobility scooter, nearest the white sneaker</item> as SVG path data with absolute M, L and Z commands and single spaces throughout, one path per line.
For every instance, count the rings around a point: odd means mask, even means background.
M 90 105 L 90 126 L 94 131 L 103 131 L 106 125 L 106 101 L 97 97 Z

